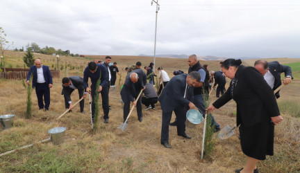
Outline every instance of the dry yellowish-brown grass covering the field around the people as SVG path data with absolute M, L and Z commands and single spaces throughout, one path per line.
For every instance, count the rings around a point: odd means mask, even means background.
M 112 61 L 118 62 L 119 69 L 125 74 L 124 67 L 134 64 L 140 60 L 139 58 L 116 56 Z M 144 57 L 141 62 L 148 65 L 151 60 L 151 57 Z M 85 61 L 82 60 L 82 63 Z M 170 78 L 174 69 L 183 71 L 188 69 L 188 65 L 184 65 L 184 69 L 180 68 L 185 60 L 157 59 L 157 61 L 157 66 L 165 67 Z M 201 62 L 203 63 L 210 64 L 212 69 L 219 69 L 218 62 Z M 76 71 L 72 73 L 75 74 Z M 122 75 L 122 83 L 125 76 Z M 278 102 L 282 100 L 299 102 L 299 86 L 300 82 L 294 80 L 292 84 L 283 88 Z M 126 130 L 122 132 L 117 129 L 123 120 L 118 86 L 115 91 L 110 91 L 112 110 L 109 123 L 104 124 L 100 116 L 99 131 L 92 135 L 88 100 L 85 100 L 84 115 L 79 113 L 79 106 L 76 105 L 72 113 L 55 120 L 65 111 L 61 89 L 60 80 L 54 79 L 50 111 L 47 112 L 38 110 L 33 90 L 33 116 L 26 120 L 26 90 L 22 83 L 15 80 L 0 80 L 0 113 L 9 113 L 12 110 L 16 113 L 14 127 L 0 131 L 0 153 L 48 138 L 47 131 L 52 127 L 67 127 L 65 142 L 62 145 L 42 143 L 0 157 L 0 172 L 233 172 L 245 163 L 237 129 L 235 136 L 227 140 L 217 139 L 213 154 L 205 160 L 199 159 L 203 123 L 196 127 L 187 127 L 187 134 L 192 136 L 192 140 L 177 136 L 176 127 L 169 127 L 169 142 L 173 149 L 166 149 L 160 145 L 162 115 L 159 104 L 156 110 L 143 111 L 143 122 L 138 121 L 136 111 L 133 111 Z M 212 102 L 216 99 L 214 95 L 213 92 Z M 78 100 L 77 91 L 72 95 L 72 100 Z M 217 122 L 224 127 L 235 124 L 233 111 L 235 102 L 231 101 L 213 113 Z M 103 115 L 102 109 L 100 113 Z M 283 116 L 285 118 L 283 123 L 276 126 L 275 154 L 268 156 L 266 161 L 259 162 L 260 172 L 300 171 L 300 118 L 288 114 Z

